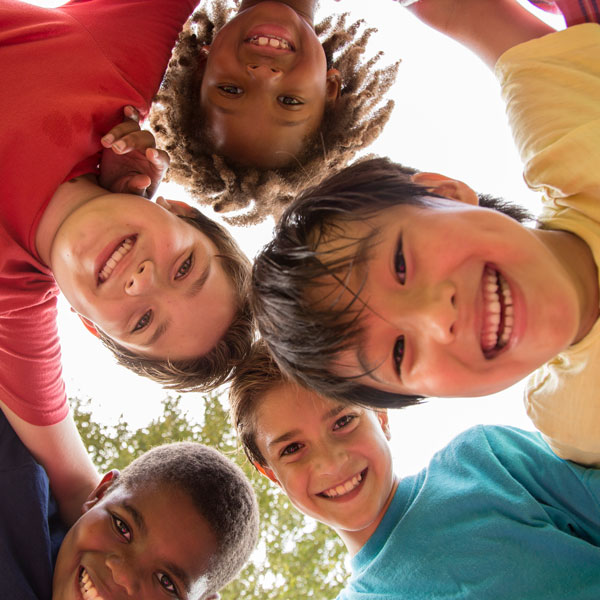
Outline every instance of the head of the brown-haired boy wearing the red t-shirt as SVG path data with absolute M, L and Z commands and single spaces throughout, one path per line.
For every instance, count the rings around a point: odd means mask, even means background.
M 214 387 L 250 347 L 248 259 L 185 203 L 93 198 L 58 229 L 51 267 L 119 362 L 167 387 Z

